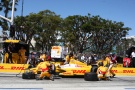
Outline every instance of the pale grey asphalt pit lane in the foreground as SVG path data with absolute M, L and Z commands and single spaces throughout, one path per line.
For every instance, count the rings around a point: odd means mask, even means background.
M 82 77 L 51 80 L 22 79 L 21 75 L 0 73 L 0 90 L 135 90 L 135 77 L 112 78 L 112 81 L 85 81 Z

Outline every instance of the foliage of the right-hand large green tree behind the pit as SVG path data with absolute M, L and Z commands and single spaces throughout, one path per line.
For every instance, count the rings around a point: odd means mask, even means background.
M 105 20 L 100 16 L 69 16 L 65 19 L 63 34 L 70 45 L 79 52 L 106 54 L 130 30 L 122 22 Z M 73 50 L 73 49 L 72 49 Z M 74 50 L 73 50 L 74 51 Z

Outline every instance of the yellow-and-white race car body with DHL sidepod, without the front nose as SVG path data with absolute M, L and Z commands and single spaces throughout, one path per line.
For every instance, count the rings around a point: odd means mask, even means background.
M 56 70 L 59 72 L 59 76 L 83 76 L 97 67 L 97 64 L 87 65 L 87 63 L 71 59 L 69 64 L 59 65 Z

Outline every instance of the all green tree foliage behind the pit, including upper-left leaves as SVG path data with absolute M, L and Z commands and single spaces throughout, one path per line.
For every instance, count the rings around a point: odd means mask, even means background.
M 16 5 L 19 0 L 16 0 Z M 0 10 L 8 17 L 12 0 L 1 0 Z M 16 10 L 16 8 L 15 8 Z M 1 19 L 0 25 L 7 30 L 7 21 Z M 36 49 L 49 51 L 57 42 L 63 42 L 73 52 L 89 50 L 96 54 L 106 54 L 128 34 L 129 27 L 123 22 L 106 20 L 100 16 L 73 15 L 61 18 L 60 15 L 43 10 L 27 16 L 16 16 L 16 39 L 31 44 L 36 40 Z

